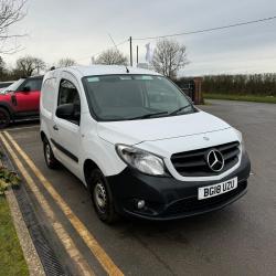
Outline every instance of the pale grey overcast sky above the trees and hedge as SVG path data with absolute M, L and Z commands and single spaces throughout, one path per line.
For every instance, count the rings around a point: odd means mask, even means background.
M 91 56 L 132 38 L 213 28 L 276 15 L 275 0 L 29 0 L 28 15 L 12 33 L 28 33 L 24 50 L 3 56 L 9 64 L 23 55 L 49 65 L 70 56 L 88 65 Z M 276 20 L 259 24 L 176 38 L 187 45 L 184 75 L 276 72 Z M 145 44 L 134 41 L 145 62 Z M 128 43 L 119 46 L 129 54 Z

